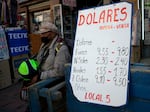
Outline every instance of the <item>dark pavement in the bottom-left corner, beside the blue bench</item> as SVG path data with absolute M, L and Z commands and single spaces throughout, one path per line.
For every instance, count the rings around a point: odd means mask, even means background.
M 25 112 L 27 103 L 19 96 L 21 86 L 20 81 L 0 90 L 0 112 Z

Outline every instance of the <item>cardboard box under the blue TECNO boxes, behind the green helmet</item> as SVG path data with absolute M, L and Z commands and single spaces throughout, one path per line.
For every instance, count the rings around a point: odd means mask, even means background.
M 18 73 L 18 67 L 20 63 L 28 59 L 28 57 L 29 57 L 28 54 L 22 54 L 22 55 L 12 57 L 12 68 L 13 68 L 13 74 L 14 74 L 13 82 L 16 82 L 22 78 Z

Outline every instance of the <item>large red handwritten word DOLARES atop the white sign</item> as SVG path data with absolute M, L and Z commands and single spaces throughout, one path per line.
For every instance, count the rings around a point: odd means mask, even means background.
M 127 7 L 100 10 L 99 13 L 89 12 L 88 14 L 80 14 L 78 25 L 91 25 L 99 23 L 111 23 L 125 21 L 127 19 Z

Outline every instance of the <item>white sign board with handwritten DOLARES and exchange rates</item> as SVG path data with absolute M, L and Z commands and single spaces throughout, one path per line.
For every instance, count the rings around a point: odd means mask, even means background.
M 78 13 L 70 83 L 82 102 L 127 102 L 132 4 L 120 2 Z

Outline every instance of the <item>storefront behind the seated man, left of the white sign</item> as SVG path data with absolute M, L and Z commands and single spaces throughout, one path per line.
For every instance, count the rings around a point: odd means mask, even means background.
M 37 31 L 44 21 L 56 24 L 62 37 L 74 38 L 76 21 L 75 0 L 32 0 L 19 3 L 19 14 L 25 15 L 24 26 L 29 31 L 31 54 L 38 52 L 41 41 Z

